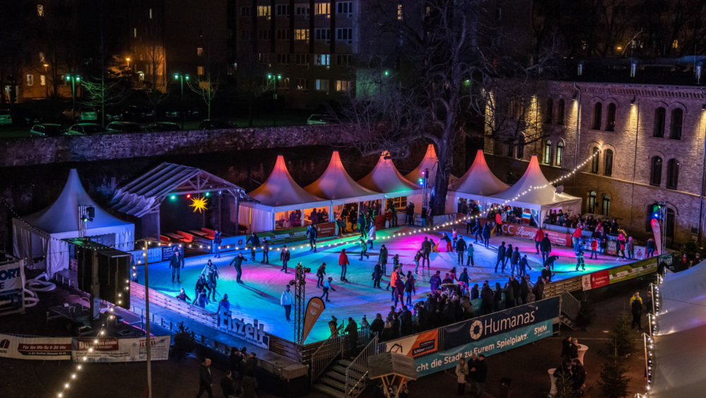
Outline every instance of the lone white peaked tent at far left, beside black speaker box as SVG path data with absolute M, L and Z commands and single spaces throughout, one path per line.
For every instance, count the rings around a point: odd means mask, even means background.
M 68 269 L 68 243 L 61 239 L 80 236 L 78 206 L 92 206 L 95 209 L 93 221 L 85 223 L 84 236 L 102 236 L 105 245 L 112 245 L 118 250 L 133 250 L 135 225 L 101 209 L 81 185 L 76 169 L 71 169 L 64 190 L 51 206 L 22 220 L 13 218 L 15 256 L 26 259 L 44 256 L 50 277 Z

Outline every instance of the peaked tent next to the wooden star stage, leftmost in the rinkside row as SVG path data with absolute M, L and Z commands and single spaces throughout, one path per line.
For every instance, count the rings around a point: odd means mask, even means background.
M 270 177 L 248 196 L 260 203 L 241 202 L 239 222 L 253 232 L 275 230 L 275 216 L 282 211 L 330 208 L 330 201 L 315 197 L 294 182 L 282 155 L 277 156 Z M 328 213 L 331 213 L 330 209 Z

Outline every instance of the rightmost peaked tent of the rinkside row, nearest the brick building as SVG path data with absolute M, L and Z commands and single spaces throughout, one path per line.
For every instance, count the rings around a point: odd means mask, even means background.
M 544 187 L 546 185 L 546 187 Z M 543 187 L 543 188 L 534 188 Z M 532 188 L 532 189 L 530 189 Z M 514 199 L 517 197 L 517 199 Z M 537 156 L 532 156 L 530 165 L 519 181 L 512 187 L 498 194 L 493 194 L 489 198 L 490 202 L 503 203 L 508 201 L 510 206 L 529 208 L 532 210 L 532 218 L 539 225 L 544 220 L 544 216 L 551 209 L 561 208 L 566 213 L 577 214 L 581 211 L 581 198 L 573 197 L 569 194 L 556 193 L 556 187 L 549 184 L 542 170 L 539 169 Z

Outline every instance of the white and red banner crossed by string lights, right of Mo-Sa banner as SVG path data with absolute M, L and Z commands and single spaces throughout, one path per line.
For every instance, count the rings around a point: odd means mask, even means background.
M 147 339 L 73 339 L 71 356 L 74 362 L 138 362 L 147 361 Z M 169 359 L 169 336 L 152 336 L 152 361 Z M 92 352 L 88 349 L 92 348 Z

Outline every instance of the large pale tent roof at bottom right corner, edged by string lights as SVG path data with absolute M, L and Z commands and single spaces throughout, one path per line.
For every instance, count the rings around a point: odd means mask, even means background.
M 659 285 L 650 398 L 702 397 L 706 390 L 705 264 L 667 274 Z

